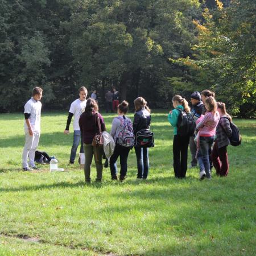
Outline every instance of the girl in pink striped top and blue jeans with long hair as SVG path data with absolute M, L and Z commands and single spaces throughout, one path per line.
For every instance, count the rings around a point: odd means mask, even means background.
M 203 180 L 205 176 L 210 179 L 210 161 L 209 148 L 212 147 L 216 126 L 220 120 L 220 114 L 217 112 L 217 103 L 215 99 L 210 96 L 205 99 L 205 108 L 207 112 L 199 123 L 196 125 L 196 131 L 199 132 L 200 155 L 203 161 L 204 170 L 200 168 L 200 179 Z

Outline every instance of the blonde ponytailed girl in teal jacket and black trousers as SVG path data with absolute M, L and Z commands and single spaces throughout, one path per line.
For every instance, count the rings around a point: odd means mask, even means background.
M 190 108 L 185 98 L 180 95 L 175 95 L 172 98 L 172 105 L 174 106 L 174 110 L 169 112 L 168 121 L 174 126 L 174 142 L 172 146 L 172 152 L 174 154 L 174 175 L 179 179 L 183 179 L 186 176 L 188 168 L 189 135 L 177 134 L 177 121 L 180 114 L 178 109 L 190 113 Z

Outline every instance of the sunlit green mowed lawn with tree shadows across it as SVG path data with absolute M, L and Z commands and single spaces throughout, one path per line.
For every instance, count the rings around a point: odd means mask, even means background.
M 103 115 L 110 130 L 114 114 Z M 93 163 L 89 185 L 77 159 L 67 166 L 73 134 L 63 134 L 66 121 L 67 112 L 42 112 L 38 147 L 65 172 L 24 172 L 23 114 L 0 114 L 0 255 L 255 255 L 255 120 L 234 120 L 242 145 L 228 147 L 228 177 L 213 171 L 200 181 L 193 168 L 177 180 L 173 129 L 167 112 L 153 110 L 148 180 L 136 179 L 133 151 L 125 182 L 104 168 L 95 183 Z

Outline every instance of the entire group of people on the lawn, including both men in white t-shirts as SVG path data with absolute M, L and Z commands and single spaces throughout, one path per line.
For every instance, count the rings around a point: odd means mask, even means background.
M 94 92 L 93 92 L 94 93 Z M 80 152 L 85 154 L 84 174 L 85 181 L 90 183 L 90 168 L 92 159 L 96 163 L 97 178 L 102 180 L 102 156 L 104 148 L 93 144 L 96 134 L 101 134 L 106 130 L 104 118 L 98 112 L 98 104 L 95 98 L 90 97 L 86 100 L 88 91 L 82 86 L 79 88 L 79 98 L 72 102 L 67 118 L 67 125 L 64 134 L 69 134 L 69 125 L 73 119 L 73 144 L 69 164 L 73 164 L 76 158 L 76 151 L 80 146 Z M 43 95 L 42 88 L 36 87 L 32 91 L 32 97 L 24 106 L 24 130 L 26 142 L 23 149 L 22 167 L 24 171 L 38 169 L 35 166 L 35 150 L 38 146 L 40 137 L 40 113 L 42 104 L 40 100 Z M 113 99 L 113 98 L 112 98 Z M 116 103 L 115 103 L 116 104 Z M 229 136 L 232 134 L 230 115 L 226 113 L 225 104 L 216 102 L 214 93 L 210 90 L 194 92 L 191 94 L 192 109 L 189 108 L 185 98 L 176 95 L 172 98 L 174 110 L 168 114 L 168 120 L 174 126 L 174 173 L 177 178 L 184 178 L 187 172 L 188 145 L 191 150 L 191 167 L 195 167 L 197 162 L 200 167 L 200 179 L 211 178 L 211 163 L 216 168 L 217 175 L 228 175 L 229 164 L 226 147 L 228 146 Z M 134 100 L 135 114 L 131 122 L 127 117 L 129 104 L 122 101 L 117 104 L 117 117 L 113 119 L 110 136 L 114 141 L 114 150 L 109 158 L 110 174 L 113 180 L 118 179 L 117 159 L 120 160 L 119 180 L 125 180 L 127 174 L 127 159 L 131 146 L 121 143 L 122 127 L 130 127 L 136 141 L 136 134 L 139 131 L 150 130 L 151 114 L 146 100 L 138 97 Z M 181 110 L 181 111 L 180 111 Z M 178 132 L 178 119 L 181 112 L 190 113 L 196 121 L 195 134 L 181 135 Z M 81 141 L 81 142 L 80 142 Z M 215 142 L 214 142 L 215 141 Z M 213 150 L 212 144 L 214 142 Z M 137 157 L 137 178 L 147 179 L 149 159 L 148 147 L 135 143 L 135 154 Z M 27 163 L 27 158 L 28 163 Z

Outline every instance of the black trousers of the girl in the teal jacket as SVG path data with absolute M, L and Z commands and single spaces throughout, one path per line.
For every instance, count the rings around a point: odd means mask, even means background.
M 172 151 L 174 153 L 174 175 L 178 178 L 186 176 L 188 168 L 189 136 L 174 135 Z

